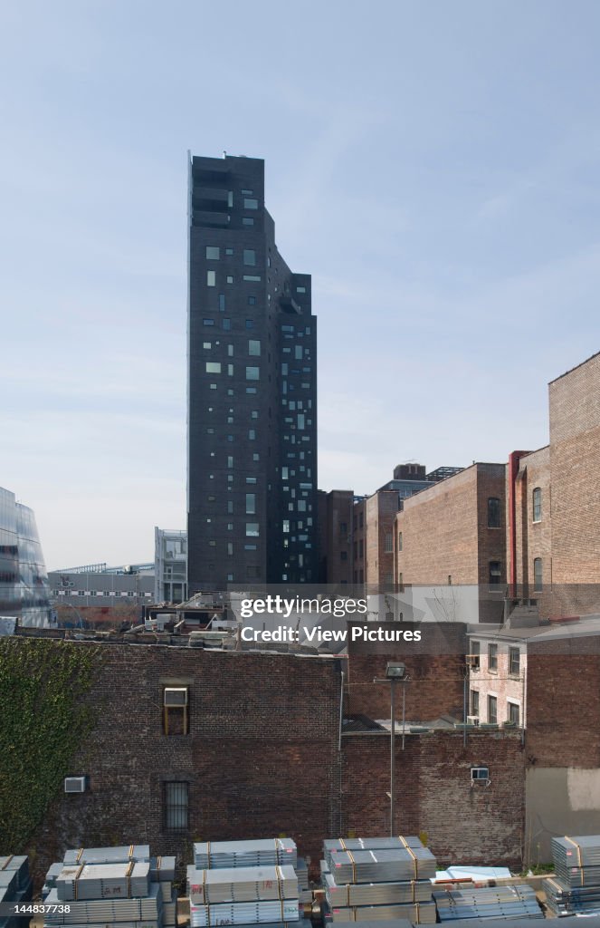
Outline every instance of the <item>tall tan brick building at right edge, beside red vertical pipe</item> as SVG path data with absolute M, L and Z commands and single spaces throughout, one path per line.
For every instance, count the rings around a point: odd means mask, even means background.
M 600 354 L 550 382 L 549 413 L 549 445 L 509 461 L 509 582 L 541 615 L 600 612 Z

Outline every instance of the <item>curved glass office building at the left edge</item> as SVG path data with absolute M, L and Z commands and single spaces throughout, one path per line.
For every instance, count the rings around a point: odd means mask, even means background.
M 0 487 L 0 616 L 47 627 L 53 615 L 33 511 Z

